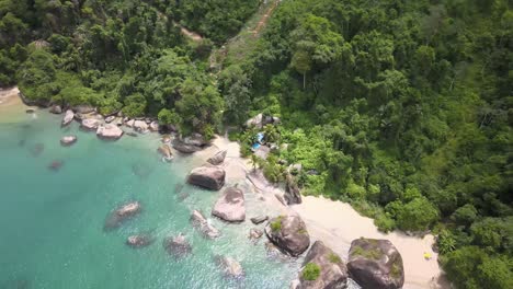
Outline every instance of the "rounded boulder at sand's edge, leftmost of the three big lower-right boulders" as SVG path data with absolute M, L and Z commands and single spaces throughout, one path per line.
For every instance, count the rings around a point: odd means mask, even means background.
M 269 240 L 290 256 L 299 256 L 310 245 L 310 235 L 299 216 L 278 216 L 265 227 Z

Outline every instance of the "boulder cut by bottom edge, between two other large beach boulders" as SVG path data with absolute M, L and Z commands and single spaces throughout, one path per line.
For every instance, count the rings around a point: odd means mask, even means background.
M 308 265 L 310 264 L 310 265 Z M 306 266 L 319 268 L 319 275 L 306 273 Z M 305 257 L 303 269 L 299 274 L 298 289 L 335 289 L 345 288 L 347 285 L 347 268 L 340 256 L 321 241 L 311 246 Z

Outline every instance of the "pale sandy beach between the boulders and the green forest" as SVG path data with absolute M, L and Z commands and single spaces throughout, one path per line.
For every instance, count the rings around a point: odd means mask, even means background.
M 15 122 L 16 117 L 24 117 L 29 107 L 18 96 L 18 88 L 0 91 L 0 123 Z M 3 118 L 4 116 L 9 117 Z M 283 187 L 274 186 L 261 175 L 255 174 L 250 161 L 240 155 L 239 143 L 230 141 L 227 136 L 216 136 L 212 146 L 190 155 L 176 153 L 174 149 L 173 153 L 180 155 L 180 162 L 185 162 L 189 169 L 204 164 L 219 150 L 227 150 L 225 162 L 221 164 L 227 173 L 227 185 L 249 184 L 258 194 L 256 197 L 265 201 L 265 206 L 282 213 L 299 215 L 307 224 L 311 243 L 321 240 L 346 259 L 352 240 L 361 236 L 387 239 L 402 255 L 403 288 L 448 288 L 444 278 L 440 278 L 442 270 L 436 262 L 437 254 L 431 247 L 434 242 L 434 236 L 431 234 L 421 239 L 397 231 L 388 234 L 381 233 L 374 226 L 373 219 L 358 215 L 349 204 L 332 201 L 323 197 L 303 196 L 303 204 L 287 207 L 275 197 L 276 194 L 283 195 Z M 433 258 L 424 259 L 424 253 L 431 253 Z

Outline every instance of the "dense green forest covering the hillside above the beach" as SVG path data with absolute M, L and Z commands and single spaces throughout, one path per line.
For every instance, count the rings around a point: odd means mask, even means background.
M 433 230 L 458 288 L 513 288 L 511 1 L 283 0 L 212 73 L 210 51 L 259 4 L 0 0 L 0 85 L 185 135 L 236 126 L 246 154 L 246 119 L 280 116 L 264 131 L 283 149 L 259 161 L 270 180 L 280 160 L 301 163 L 304 194 L 350 201 L 384 231 Z

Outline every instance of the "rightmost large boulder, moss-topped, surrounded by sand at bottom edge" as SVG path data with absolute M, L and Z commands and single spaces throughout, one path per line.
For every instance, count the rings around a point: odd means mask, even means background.
M 388 240 L 361 238 L 351 242 L 347 269 L 362 288 L 397 289 L 404 284 L 401 254 Z

